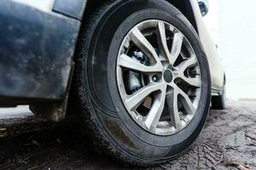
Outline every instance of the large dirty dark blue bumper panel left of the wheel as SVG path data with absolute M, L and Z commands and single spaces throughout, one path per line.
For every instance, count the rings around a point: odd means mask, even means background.
M 63 99 L 80 21 L 0 1 L 0 103 Z

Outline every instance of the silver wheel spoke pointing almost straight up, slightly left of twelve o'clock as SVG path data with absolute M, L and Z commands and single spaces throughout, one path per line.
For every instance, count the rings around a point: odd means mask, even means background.
M 171 53 L 167 46 L 166 41 L 166 26 L 163 21 L 158 22 L 157 26 L 157 42 L 159 44 L 160 48 L 160 54 L 162 54 L 166 59 L 168 59 L 171 62 Z

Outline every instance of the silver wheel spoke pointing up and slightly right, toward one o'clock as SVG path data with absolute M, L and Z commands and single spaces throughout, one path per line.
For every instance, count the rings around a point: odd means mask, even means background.
M 181 52 L 181 48 L 183 46 L 183 34 L 177 32 L 174 34 L 173 42 L 172 42 L 172 50 L 171 50 L 171 61 L 170 64 L 174 65 L 175 61 L 177 60 L 178 55 Z

